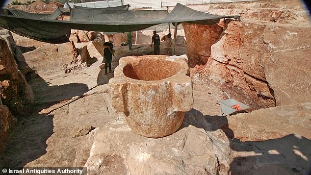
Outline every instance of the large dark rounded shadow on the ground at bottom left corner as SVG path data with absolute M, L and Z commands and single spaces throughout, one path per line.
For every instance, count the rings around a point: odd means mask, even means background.
M 47 140 L 53 134 L 53 117 L 37 114 L 22 120 L 9 135 L 9 147 L 1 156 L 0 167 L 21 168 L 46 154 Z

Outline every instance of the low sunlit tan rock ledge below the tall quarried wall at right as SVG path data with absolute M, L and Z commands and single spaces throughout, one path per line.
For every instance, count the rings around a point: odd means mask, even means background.
M 208 118 L 208 122 L 218 125 L 231 139 L 243 142 L 277 139 L 292 133 L 311 139 L 311 102 Z

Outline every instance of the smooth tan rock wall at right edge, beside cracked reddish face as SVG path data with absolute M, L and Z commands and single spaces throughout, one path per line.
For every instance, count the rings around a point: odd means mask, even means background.
M 263 42 L 271 56 L 263 63 L 277 105 L 311 99 L 311 25 L 266 25 Z

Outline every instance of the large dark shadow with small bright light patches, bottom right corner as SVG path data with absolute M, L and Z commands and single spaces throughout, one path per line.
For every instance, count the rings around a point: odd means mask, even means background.
M 228 174 L 307 175 L 311 159 L 311 140 L 295 134 L 259 142 L 233 140 L 231 148 L 243 155 L 235 157 Z M 245 153 L 245 151 L 247 151 Z

